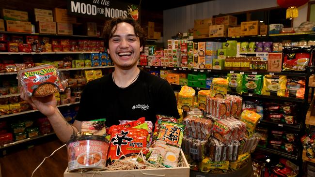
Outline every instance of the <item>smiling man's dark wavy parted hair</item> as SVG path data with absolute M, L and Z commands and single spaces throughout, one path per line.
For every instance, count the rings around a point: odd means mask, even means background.
M 105 39 L 105 47 L 109 48 L 110 38 L 112 37 L 113 33 L 116 32 L 117 25 L 119 23 L 122 23 L 122 22 L 129 23 L 130 25 L 133 26 L 133 29 L 135 31 L 136 36 L 139 37 L 140 46 L 144 46 L 144 44 L 145 44 L 144 32 L 143 32 L 143 29 L 141 28 L 140 24 L 138 23 L 138 21 L 136 21 L 132 18 L 118 17 L 118 18 L 112 18 L 105 23 L 105 27 L 103 30 L 103 37 Z M 112 29 L 114 29 L 114 30 L 111 31 Z

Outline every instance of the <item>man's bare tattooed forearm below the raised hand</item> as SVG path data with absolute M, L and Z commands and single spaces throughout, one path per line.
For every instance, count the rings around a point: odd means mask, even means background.
M 77 135 L 78 129 L 63 118 L 58 108 L 56 108 L 55 114 L 49 116 L 48 119 L 56 135 L 62 142 L 66 142 L 71 137 Z

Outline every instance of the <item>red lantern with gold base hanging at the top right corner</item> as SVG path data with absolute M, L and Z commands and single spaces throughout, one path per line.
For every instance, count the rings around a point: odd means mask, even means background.
M 286 8 L 286 18 L 298 17 L 298 7 L 304 5 L 309 0 L 277 0 L 280 7 Z

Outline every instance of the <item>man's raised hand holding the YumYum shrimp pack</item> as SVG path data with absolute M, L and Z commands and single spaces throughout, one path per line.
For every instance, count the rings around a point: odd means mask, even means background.
M 52 116 L 57 111 L 55 94 L 50 94 L 46 97 L 28 97 L 24 88 L 21 88 L 21 98 L 47 117 Z

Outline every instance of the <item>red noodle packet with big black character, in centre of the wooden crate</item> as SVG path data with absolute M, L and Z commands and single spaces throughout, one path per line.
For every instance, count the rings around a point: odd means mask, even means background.
M 129 127 L 111 126 L 108 161 L 113 162 L 122 155 L 138 154 L 146 147 L 148 131 Z

